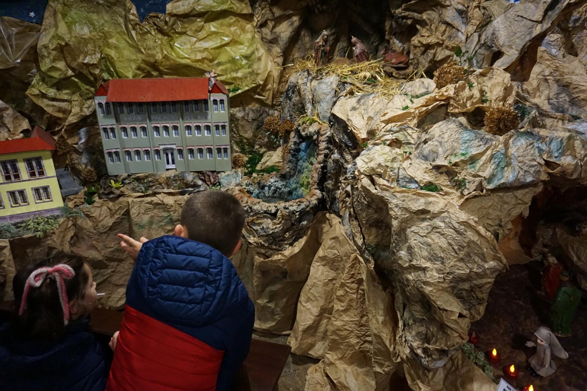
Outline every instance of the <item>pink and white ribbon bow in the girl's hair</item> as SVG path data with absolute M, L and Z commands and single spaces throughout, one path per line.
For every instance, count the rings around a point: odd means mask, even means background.
M 59 302 L 63 310 L 63 324 L 67 325 L 69 322 L 69 301 L 67 289 L 65 287 L 65 280 L 69 280 L 75 276 L 73 269 L 63 263 L 55 265 L 53 267 L 39 267 L 37 270 L 31 273 L 31 276 L 26 279 L 25 290 L 22 293 L 21 308 L 18 310 L 18 314 L 22 315 L 26 308 L 26 297 L 29 294 L 31 287 L 38 288 L 41 286 L 45 278 L 53 278 L 57 284 L 57 292 L 59 294 Z

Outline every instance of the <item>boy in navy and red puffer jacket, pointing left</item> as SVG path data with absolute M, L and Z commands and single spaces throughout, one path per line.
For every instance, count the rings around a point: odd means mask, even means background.
M 175 236 L 140 242 L 108 391 L 230 389 L 248 354 L 254 307 L 228 257 L 241 247 L 245 213 L 227 192 L 191 196 Z

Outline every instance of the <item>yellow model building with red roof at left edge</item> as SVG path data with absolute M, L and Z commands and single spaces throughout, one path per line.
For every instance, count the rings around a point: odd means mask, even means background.
M 54 149 L 53 137 L 39 127 L 30 138 L 0 141 L 0 223 L 59 212 Z

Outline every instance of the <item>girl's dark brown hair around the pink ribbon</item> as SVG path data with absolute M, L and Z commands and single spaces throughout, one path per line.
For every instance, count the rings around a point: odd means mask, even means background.
M 39 267 L 66 264 L 73 269 L 75 275 L 66 279 L 67 300 L 82 301 L 86 293 L 90 276 L 83 267 L 85 262 L 75 254 L 57 253 L 41 262 L 26 266 L 16 273 L 12 282 L 15 308 L 21 307 L 22 294 L 26 279 Z M 38 288 L 31 287 L 26 297 L 26 308 L 22 315 L 15 315 L 14 328 L 19 334 L 34 339 L 54 339 L 65 334 L 63 310 L 59 301 L 56 281 L 46 278 Z

